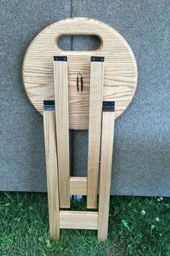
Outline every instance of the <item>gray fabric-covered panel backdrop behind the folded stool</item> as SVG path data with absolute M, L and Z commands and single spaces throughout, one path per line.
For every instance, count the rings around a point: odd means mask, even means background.
M 94 17 L 115 27 L 138 62 L 138 89 L 115 124 L 112 195 L 170 195 L 169 12 L 167 0 L 1 1 L 0 190 L 46 191 L 42 116 L 24 93 L 31 40 L 56 20 Z M 69 49 L 97 42 L 66 38 Z M 71 172 L 86 175 L 88 132 L 71 131 Z

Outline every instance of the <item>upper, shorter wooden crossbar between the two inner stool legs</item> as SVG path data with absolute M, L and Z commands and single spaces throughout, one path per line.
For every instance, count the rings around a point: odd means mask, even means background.
M 86 195 L 86 177 L 70 178 L 70 195 Z

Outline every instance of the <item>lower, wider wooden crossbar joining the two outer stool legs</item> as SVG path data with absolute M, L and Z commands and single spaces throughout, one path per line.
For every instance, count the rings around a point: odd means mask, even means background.
M 61 229 L 96 229 L 98 226 L 97 212 L 60 211 Z

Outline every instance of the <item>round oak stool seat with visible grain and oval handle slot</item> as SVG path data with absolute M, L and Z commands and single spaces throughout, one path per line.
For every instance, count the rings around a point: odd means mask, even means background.
M 101 46 L 95 51 L 63 51 L 61 35 L 97 35 Z M 68 56 L 68 103 L 70 129 L 89 128 L 90 56 L 104 56 L 104 101 L 115 101 L 115 117 L 132 101 L 137 85 L 137 65 L 125 38 L 109 25 L 86 17 L 60 20 L 45 27 L 30 44 L 24 57 L 24 87 L 32 104 L 42 114 L 43 100 L 54 99 L 53 56 Z M 81 72 L 84 91 L 76 90 Z

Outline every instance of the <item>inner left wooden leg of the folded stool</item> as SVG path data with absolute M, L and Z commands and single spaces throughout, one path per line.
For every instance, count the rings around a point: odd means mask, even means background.
M 53 61 L 58 180 L 61 208 L 70 207 L 67 61 Z

